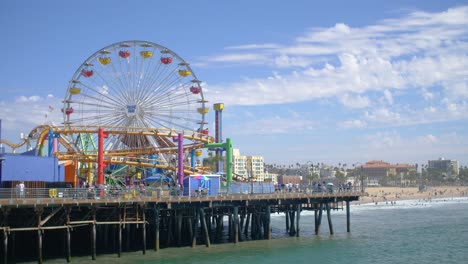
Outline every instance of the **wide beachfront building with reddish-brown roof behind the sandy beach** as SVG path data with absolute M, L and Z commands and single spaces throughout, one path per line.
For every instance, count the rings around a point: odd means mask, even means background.
M 416 172 L 416 166 L 410 164 L 390 164 L 382 160 L 371 160 L 360 167 L 360 173 L 364 176 L 368 186 L 379 185 L 382 182 L 404 184 L 406 176 Z

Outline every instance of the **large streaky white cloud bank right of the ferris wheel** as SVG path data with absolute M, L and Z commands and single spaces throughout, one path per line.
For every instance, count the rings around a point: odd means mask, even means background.
M 450 98 L 468 97 L 468 7 L 446 12 L 413 12 L 375 25 L 353 28 L 337 23 L 312 28 L 295 42 L 228 47 L 229 53 L 207 59 L 281 69 L 275 76 L 244 78 L 234 83 L 210 83 L 207 97 L 230 105 L 284 104 L 338 97 L 351 108 L 369 106 L 367 93 L 379 91 L 395 103 L 395 90 L 429 92 L 442 86 Z M 287 71 L 290 69 L 290 71 Z M 358 101 L 343 94 L 359 94 Z M 457 97 L 458 96 L 458 97 Z

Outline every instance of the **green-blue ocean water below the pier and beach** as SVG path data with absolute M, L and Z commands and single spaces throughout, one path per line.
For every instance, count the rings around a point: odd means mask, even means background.
M 289 237 L 284 215 L 277 214 L 272 215 L 272 240 L 147 250 L 146 255 L 124 252 L 121 258 L 98 255 L 96 263 L 468 263 L 468 198 L 352 205 L 351 233 L 345 211 L 332 211 L 332 221 L 334 235 L 324 214 L 316 236 L 313 212 L 303 212 L 301 236 Z M 91 257 L 72 259 L 89 262 Z

